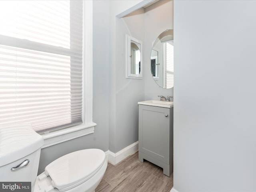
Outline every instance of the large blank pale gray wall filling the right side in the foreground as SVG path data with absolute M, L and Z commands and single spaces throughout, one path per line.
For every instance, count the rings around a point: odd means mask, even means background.
M 256 191 L 256 1 L 174 1 L 174 188 Z

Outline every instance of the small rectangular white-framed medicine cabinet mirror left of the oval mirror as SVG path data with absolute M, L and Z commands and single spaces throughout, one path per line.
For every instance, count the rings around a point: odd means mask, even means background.
M 126 78 L 142 79 L 142 42 L 126 35 Z

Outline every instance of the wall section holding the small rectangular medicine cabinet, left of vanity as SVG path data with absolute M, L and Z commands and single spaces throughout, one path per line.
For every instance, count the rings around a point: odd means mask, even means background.
M 143 9 L 116 20 L 116 150 L 114 152 L 138 141 L 138 101 L 144 100 L 144 79 L 126 78 L 125 37 L 127 34 L 143 40 L 143 24 Z

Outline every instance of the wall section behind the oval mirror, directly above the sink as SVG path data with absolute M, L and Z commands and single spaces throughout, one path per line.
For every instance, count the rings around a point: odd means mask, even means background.
M 150 69 L 150 54 L 156 38 L 166 29 L 173 29 L 173 0 L 161 0 L 146 8 L 144 27 L 145 100 L 159 100 L 158 95 L 173 96 L 173 88 L 164 89 L 154 82 Z

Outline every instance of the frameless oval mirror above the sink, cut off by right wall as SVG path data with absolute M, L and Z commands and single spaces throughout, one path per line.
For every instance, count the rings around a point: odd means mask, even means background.
M 155 82 L 162 88 L 173 88 L 173 29 L 158 36 L 151 51 L 150 61 Z

